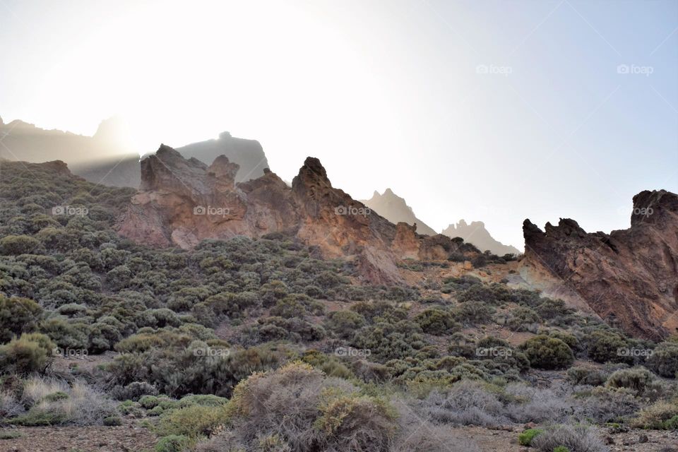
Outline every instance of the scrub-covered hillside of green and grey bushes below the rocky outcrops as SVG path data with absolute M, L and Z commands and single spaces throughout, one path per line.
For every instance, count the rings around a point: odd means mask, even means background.
M 213 176 L 184 168 L 197 172 L 184 189 L 231 180 L 232 164 L 217 163 Z M 141 194 L 172 182 L 157 164 Z M 136 191 L 63 162 L 1 165 L 6 450 L 518 452 L 522 441 L 650 452 L 678 441 L 676 342 L 509 287 L 519 262 L 403 258 L 396 285 L 309 246 L 312 234 L 136 244 L 114 230 Z M 334 193 L 315 185 L 320 168 L 307 160 L 293 183 L 309 210 Z

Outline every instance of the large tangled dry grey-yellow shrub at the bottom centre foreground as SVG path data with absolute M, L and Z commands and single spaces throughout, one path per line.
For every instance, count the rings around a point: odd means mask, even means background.
M 227 409 L 230 431 L 204 451 L 386 452 L 396 429 L 388 404 L 302 363 L 253 374 Z

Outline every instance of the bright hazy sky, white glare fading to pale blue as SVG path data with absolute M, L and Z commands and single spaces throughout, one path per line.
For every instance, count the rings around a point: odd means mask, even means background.
M 0 116 L 135 150 L 222 131 L 435 230 L 629 227 L 678 192 L 678 1 L 0 0 Z

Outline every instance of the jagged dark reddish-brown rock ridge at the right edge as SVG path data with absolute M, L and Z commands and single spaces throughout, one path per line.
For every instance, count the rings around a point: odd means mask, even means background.
M 602 319 L 646 338 L 678 328 L 678 196 L 634 196 L 631 227 L 586 233 L 576 221 L 523 223 L 525 260 L 574 290 Z

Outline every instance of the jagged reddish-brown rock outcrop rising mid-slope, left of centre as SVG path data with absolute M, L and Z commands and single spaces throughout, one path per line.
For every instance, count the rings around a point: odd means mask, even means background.
M 141 161 L 141 188 L 118 222 L 119 233 L 153 246 L 191 248 L 202 239 L 292 234 L 323 256 L 353 256 L 374 283 L 400 280 L 402 258 L 445 259 L 460 244 L 393 223 L 335 189 L 320 161 L 308 157 L 287 186 L 273 172 L 237 183 L 239 165 L 212 165 L 162 145 Z

